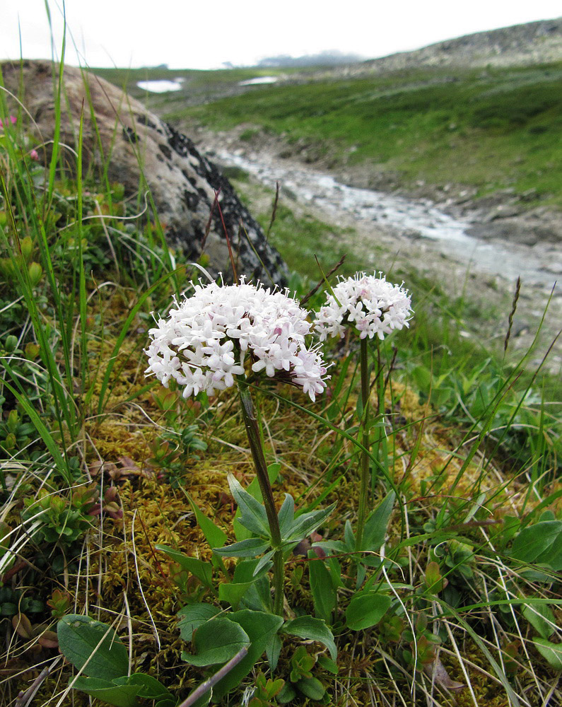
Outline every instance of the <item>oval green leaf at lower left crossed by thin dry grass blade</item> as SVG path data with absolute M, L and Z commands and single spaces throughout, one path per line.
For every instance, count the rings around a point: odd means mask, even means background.
M 68 614 L 57 624 L 59 648 L 83 674 L 103 680 L 127 675 L 129 655 L 117 633 L 82 614 Z

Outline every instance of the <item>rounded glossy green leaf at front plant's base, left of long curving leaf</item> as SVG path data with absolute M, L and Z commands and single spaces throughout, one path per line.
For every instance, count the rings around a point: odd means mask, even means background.
M 250 645 L 250 638 L 240 624 L 218 617 L 199 626 L 195 631 L 195 655 L 182 653 L 189 665 L 215 665 L 234 658 L 241 648 Z

